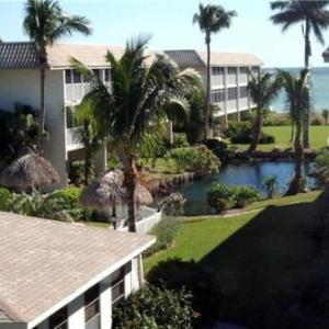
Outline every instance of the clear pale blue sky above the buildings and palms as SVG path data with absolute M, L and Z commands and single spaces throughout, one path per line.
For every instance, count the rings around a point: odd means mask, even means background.
M 93 35 L 75 35 L 65 42 L 124 45 L 140 33 L 152 35 L 150 47 L 156 49 L 204 49 L 204 37 L 192 16 L 198 0 L 60 0 L 65 11 L 89 18 Z M 232 26 L 213 37 L 212 47 L 222 52 L 251 52 L 266 67 L 297 67 L 303 65 L 303 38 L 296 25 L 285 34 L 274 26 L 269 16 L 266 0 L 202 1 L 220 3 L 236 10 Z M 0 36 L 3 41 L 24 41 L 23 0 L 0 0 Z M 329 30 L 324 33 L 329 45 Z M 313 38 L 314 41 L 314 38 Z M 326 44 L 326 46 L 327 46 Z M 325 47 L 314 41 L 313 66 L 325 66 Z

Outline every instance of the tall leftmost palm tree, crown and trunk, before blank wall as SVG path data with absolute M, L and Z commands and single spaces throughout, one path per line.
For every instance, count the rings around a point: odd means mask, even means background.
M 41 109 L 38 124 L 38 152 L 43 154 L 43 135 L 45 127 L 45 73 L 47 68 L 47 46 L 65 36 L 80 32 L 91 34 L 89 21 L 83 16 L 67 15 L 63 12 L 58 1 L 26 0 L 23 30 L 35 44 L 41 78 Z

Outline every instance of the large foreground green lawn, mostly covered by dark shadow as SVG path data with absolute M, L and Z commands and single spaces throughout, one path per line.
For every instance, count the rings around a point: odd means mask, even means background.
M 145 260 L 146 272 L 168 258 L 194 259 L 223 284 L 222 319 L 290 328 L 281 313 L 307 281 L 326 197 L 311 192 L 256 203 L 245 215 L 182 222 L 173 246 Z

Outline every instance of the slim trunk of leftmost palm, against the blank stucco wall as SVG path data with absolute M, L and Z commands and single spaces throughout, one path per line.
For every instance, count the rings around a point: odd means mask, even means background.
M 46 64 L 47 55 L 45 49 L 39 50 L 39 115 L 38 115 L 38 136 L 37 136 L 37 151 L 42 156 L 44 152 L 44 133 L 45 133 L 45 120 L 46 120 L 46 104 L 45 104 L 45 93 L 46 93 Z

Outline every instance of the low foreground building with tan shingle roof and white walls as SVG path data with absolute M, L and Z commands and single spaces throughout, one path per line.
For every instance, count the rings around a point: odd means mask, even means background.
M 24 238 L 22 238 L 24 236 Z M 155 238 L 0 213 L 0 328 L 110 329 Z

